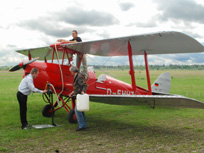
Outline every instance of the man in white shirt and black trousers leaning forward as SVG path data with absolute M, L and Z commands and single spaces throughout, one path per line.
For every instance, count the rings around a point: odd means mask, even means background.
M 21 81 L 18 92 L 17 92 L 17 99 L 20 105 L 20 118 L 21 118 L 21 124 L 22 129 L 29 129 L 29 125 L 27 122 L 27 96 L 30 95 L 31 92 L 37 92 L 37 93 L 46 93 L 47 90 L 39 90 L 35 88 L 33 84 L 33 79 L 37 78 L 38 76 L 38 69 L 33 68 L 30 71 L 30 74 L 25 76 L 23 80 Z

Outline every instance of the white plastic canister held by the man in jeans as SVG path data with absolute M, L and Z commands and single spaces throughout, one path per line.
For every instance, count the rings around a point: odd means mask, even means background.
M 89 95 L 78 94 L 76 104 L 78 111 L 80 112 L 89 111 Z

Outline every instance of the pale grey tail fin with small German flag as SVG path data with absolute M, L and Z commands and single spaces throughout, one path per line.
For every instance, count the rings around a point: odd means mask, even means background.
M 171 88 L 171 74 L 169 72 L 161 74 L 152 84 L 152 92 L 169 93 Z

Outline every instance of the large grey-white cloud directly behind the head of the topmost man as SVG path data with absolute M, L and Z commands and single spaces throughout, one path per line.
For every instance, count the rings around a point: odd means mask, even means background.
M 110 26 L 116 23 L 119 21 L 112 14 L 72 7 L 49 16 L 20 21 L 18 26 L 60 38 L 71 36 L 73 29 L 83 34 L 93 31 L 94 26 Z

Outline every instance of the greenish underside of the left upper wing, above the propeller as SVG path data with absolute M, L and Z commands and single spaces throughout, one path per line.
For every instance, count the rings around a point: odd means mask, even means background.
M 28 56 L 29 53 L 32 58 L 39 57 L 39 60 L 44 60 L 45 58 L 47 60 L 52 59 L 53 54 L 53 48 L 52 47 L 40 47 L 40 48 L 30 48 L 30 49 L 23 49 L 23 50 L 17 50 L 18 53 Z M 63 52 L 57 52 L 59 59 L 63 57 Z M 54 56 L 54 59 L 56 59 L 56 54 Z

